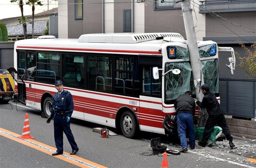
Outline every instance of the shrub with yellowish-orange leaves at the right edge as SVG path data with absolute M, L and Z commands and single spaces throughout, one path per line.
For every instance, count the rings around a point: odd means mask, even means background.
M 249 50 L 241 41 L 239 41 L 239 45 L 245 50 L 247 56 L 242 57 L 236 53 L 241 63 L 239 67 L 241 67 L 245 73 L 247 73 L 247 77 L 252 76 L 256 78 L 256 41 L 251 45 L 251 49 Z

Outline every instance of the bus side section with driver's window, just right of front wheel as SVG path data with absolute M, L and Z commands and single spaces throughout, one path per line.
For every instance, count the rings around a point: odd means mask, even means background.
M 163 133 L 162 76 L 154 79 L 153 67 L 161 68 L 162 57 L 140 56 L 142 90 L 140 94 L 140 130 Z

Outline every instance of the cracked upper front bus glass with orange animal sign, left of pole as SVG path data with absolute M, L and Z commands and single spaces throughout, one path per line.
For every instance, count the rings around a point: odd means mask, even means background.
M 168 46 L 167 56 L 169 59 L 185 59 L 189 61 L 189 49 L 180 46 Z

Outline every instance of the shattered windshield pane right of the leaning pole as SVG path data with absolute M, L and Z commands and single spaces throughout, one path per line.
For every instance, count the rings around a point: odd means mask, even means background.
M 201 61 L 201 67 L 204 74 L 204 83 L 208 84 L 212 93 L 218 93 L 219 80 L 218 80 L 218 60 Z

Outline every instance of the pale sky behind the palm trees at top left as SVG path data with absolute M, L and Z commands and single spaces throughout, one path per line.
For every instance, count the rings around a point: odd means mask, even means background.
M 0 0 L 0 19 L 5 19 L 9 17 L 18 17 L 21 16 L 20 8 L 17 3 L 11 3 L 11 0 Z M 26 0 L 23 0 L 23 2 Z M 43 6 L 35 7 L 35 14 L 38 14 L 43 11 L 47 11 L 47 0 L 41 0 L 44 4 Z M 58 1 L 49 0 L 49 9 L 57 8 Z M 23 6 L 23 14 L 31 15 L 32 14 L 32 6 L 24 5 Z

